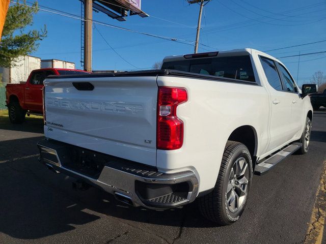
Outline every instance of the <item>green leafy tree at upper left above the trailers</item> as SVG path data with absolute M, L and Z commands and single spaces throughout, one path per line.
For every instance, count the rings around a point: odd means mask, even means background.
M 37 2 L 33 8 L 19 4 L 19 1 L 9 7 L 0 42 L 0 67 L 10 67 L 18 56 L 36 51 L 39 46 L 37 42 L 46 37 L 45 25 L 40 31 L 33 29 L 25 32 L 26 26 L 33 24 L 33 15 L 37 12 Z

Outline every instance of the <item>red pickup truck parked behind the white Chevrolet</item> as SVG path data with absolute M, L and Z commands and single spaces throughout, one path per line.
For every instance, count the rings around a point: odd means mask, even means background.
M 20 124 L 26 113 L 43 114 L 43 80 L 49 75 L 73 75 L 88 73 L 83 70 L 71 69 L 39 69 L 33 70 L 23 84 L 8 84 L 6 86 L 6 104 L 11 123 Z

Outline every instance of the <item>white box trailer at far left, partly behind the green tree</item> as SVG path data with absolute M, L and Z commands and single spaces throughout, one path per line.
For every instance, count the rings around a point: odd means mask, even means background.
M 33 56 L 19 56 L 11 68 L 0 68 L 3 83 L 26 82 L 32 70 L 41 69 L 41 58 Z

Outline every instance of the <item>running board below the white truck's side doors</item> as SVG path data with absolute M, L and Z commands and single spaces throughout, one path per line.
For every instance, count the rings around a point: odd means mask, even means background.
M 301 147 L 302 143 L 293 142 L 292 144 L 279 150 L 273 156 L 258 161 L 255 167 L 255 174 L 263 175 L 267 173 L 271 168 L 280 163 L 282 160 L 286 159 L 288 156 L 293 154 L 296 150 L 300 149 Z

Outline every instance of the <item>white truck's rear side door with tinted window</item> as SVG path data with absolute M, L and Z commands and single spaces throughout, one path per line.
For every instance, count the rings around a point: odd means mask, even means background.
M 260 56 L 260 60 L 267 81 L 265 84 L 270 94 L 270 140 L 267 148 L 267 151 L 270 151 L 292 137 L 291 123 L 289 123 L 291 121 L 291 104 L 288 93 L 283 91 L 277 64 L 267 57 Z

